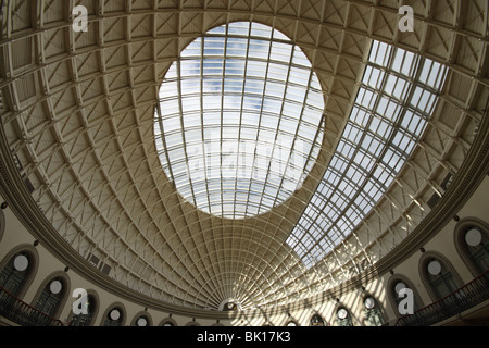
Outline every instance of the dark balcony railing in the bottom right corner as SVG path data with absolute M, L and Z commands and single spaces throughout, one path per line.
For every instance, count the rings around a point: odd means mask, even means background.
M 430 326 L 489 300 L 489 270 L 447 297 L 402 316 L 396 326 Z

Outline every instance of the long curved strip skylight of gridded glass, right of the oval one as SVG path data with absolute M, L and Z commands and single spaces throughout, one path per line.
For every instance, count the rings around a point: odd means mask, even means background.
M 287 244 L 306 268 L 341 243 L 380 200 L 423 135 L 446 67 L 374 41 L 338 148 Z

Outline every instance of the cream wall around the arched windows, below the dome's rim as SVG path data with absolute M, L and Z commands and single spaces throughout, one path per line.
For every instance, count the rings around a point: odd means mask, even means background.
M 461 221 L 467 217 L 477 217 L 485 222 L 488 222 L 487 207 L 489 206 L 489 178 L 486 176 L 480 184 L 476 192 L 469 198 L 464 208 L 459 212 L 457 216 Z M 0 198 L 1 201 L 3 199 Z M 12 250 L 28 246 L 35 248 L 38 254 L 39 266 L 36 271 L 34 279 L 29 285 L 27 291 L 24 294 L 22 300 L 34 306 L 36 294 L 39 288 L 46 282 L 47 278 L 54 273 L 65 272 L 66 265 L 60 262 L 51 252 L 49 252 L 41 244 L 34 246 L 35 238 L 28 233 L 28 231 L 22 225 L 20 220 L 11 212 L 9 208 L 3 209 L 0 214 L 3 214 L 0 219 L 0 223 L 4 223 L 3 234 L 0 231 L 0 262 L 11 253 Z M 460 256 L 454 239 L 454 231 L 460 222 L 455 220 L 450 221 L 432 239 L 430 239 L 424 246 L 426 253 L 438 253 L 443 256 L 454 268 L 463 284 L 471 282 L 474 276 L 466 265 L 462 257 Z M 273 325 L 283 326 L 294 321 L 298 325 L 310 325 L 310 320 L 314 314 L 319 314 L 328 325 L 337 325 L 336 312 L 339 307 L 343 307 L 349 310 L 353 325 L 367 325 L 365 313 L 363 311 L 363 300 L 365 296 L 374 297 L 380 306 L 386 322 L 394 323 L 399 315 L 398 309 L 392 306 L 387 295 L 387 285 L 390 277 L 402 275 L 414 284 L 417 293 L 421 296 L 422 302 L 426 306 L 432 302 L 425 285 L 423 284 L 419 262 L 423 258 L 423 251 L 418 250 L 409 257 L 406 260 L 399 263 L 392 271 L 393 274 L 384 274 L 376 279 L 365 284 L 364 290 L 356 289 L 350 291 L 338 299 L 330 299 L 321 303 L 319 306 L 311 308 L 302 308 L 298 310 L 287 311 L 286 309 L 276 309 L 272 311 L 250 311 L 242 312 L 234 320 L 220 320 L 221 325 L 237 325 L 237 326 L 262 326 Z M 210 326 L 217 324 L 216 320 L 189 318 L 167 312 L 162 312 L 151 308 L 143 308 L 142 306 L 131 302 L 126 299 L 122 299 L 103 288 L 100 288 L 96 284 L 84 278 L 80 274 L 73 270 L 65 272 L 70 279 L 68 298 L 64 303 L 63 310 L 60 314 L 60 320 L 66 322 L 72 312 L 72 306 L 75 301 L 75 297 L 72 297 L 72 293 L 76 288 L 84 288 L 95 291 L 100 300 L 99 310 L 95 321 L 96 325 L 100 325 L 103 322 L 103 315 L 106 310 L 114 303 L 122 303 L 125 309 L 125 323 L 124 325 L 130 325 L 136 315 L 141 312 L 146 312 L 149 315 L 152 325 L 160 325 L 164 320 L 171 319 L 177 325 L 184 326 L 189 324 L 197 324 L 201 326 Z

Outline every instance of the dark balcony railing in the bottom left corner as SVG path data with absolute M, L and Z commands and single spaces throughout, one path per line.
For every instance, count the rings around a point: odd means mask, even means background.
M 60 320 L 27 304 L 3 288 L 0 288 L 0 316 L 21 326 L 63 326 Z

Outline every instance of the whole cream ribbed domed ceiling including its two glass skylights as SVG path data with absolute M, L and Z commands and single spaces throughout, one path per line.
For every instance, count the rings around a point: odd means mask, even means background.
M 267 308 L 375 274 L 487 152 L 485 0 L 412 1 L 414 32 L 398 1 L 2 4 L 2 194 L 141 302 Z

